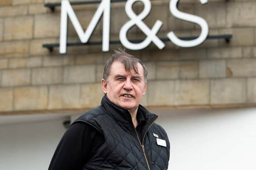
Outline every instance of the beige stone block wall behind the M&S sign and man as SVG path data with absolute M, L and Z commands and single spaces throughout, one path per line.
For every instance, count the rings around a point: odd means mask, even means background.
M 77 0 L 70 0 L 77 1 Z M 87 110 L 100 104 L 100 80 L 109 52 L 102 45 L 67 47 L 61 55 L 44 43 L 58 43 L 60 7 L 51 12 L 44 3 L 60 0 L 0 1 L 0 115 L 66 110 Z M 200 27 L 172 16 L 168 0 L 151 0 L 150 15 L 143 20 L 151 29 L 156 20 L 163 26 L 159 38 L 173 31 L 178 36 L 197 36 Z M 120 28 L 130 20 L 124 2 L 111 4 L 110 40 L 118 40 Z M 72 6 L 85 30 L 98 4 Z M 148 69 L 148 87 L 142 104 L 148 108 L 249 107 L 256 105 L 256 1 L 180 0 L 181 11 L 204 18 L 210 35 L 232 34 L 224 39 L 206 40 L 193 48 L 172 42 L 158 49 L 154 43 L 130 51 Z M 139 14 L 142 4 L 133 10 Z M 102 37 L 102 19 L 91 41 Z M 145 38 L 134 26 L 128 38 Z M 68 24 L 68 42 L 80 42 Z

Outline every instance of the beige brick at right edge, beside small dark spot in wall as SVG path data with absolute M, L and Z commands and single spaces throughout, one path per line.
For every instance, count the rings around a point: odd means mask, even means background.
M 227 67 L 233 76 L 255 76 L 256 59 L 232 59 L 227 61 Z

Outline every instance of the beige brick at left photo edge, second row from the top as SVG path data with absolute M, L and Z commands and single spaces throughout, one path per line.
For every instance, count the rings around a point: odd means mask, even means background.
M 3 6 L 0 7 L 0 17 L 22 16 L 27 14 L 27 6 Z

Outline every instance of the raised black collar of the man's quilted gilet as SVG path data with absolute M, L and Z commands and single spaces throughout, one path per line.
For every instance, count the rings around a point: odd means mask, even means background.
M 112 101 L 110 101 L 110 99 L 108 99 L 108 97 L 106 95 L 104 95 L 102 97 L 101 107 L 122 128 L 125 128 L 126 130 L 128 130 L 130 132 L 134 132 L 135 128 L 134 128 L 134 125 L 132 123 L 132 117 L 131 117 L 130 112 L 128 111 L 128 109 L 125 109 L 123 107 L 120 107 L 120 106 L 114 104 Z M 142 121 L 146 122 L 145 125 L 144 125 L 145 132 L 146 132 L 148 127 L 156 120 L 156 118 L 158 116 L 154 115 L 153 113 L 150 113 L 142 105 L 139 105 L 138 113 L 139 114 L 137 114 L 137 118 L 138 118 L 137 121 L 138 121 L 138 123 L 141 123 Z

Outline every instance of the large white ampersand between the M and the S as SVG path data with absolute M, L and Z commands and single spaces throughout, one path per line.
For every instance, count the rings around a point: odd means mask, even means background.
M 132 10 L 132 5 L 134 4 L 134 2 L 137 2 L 137 1 L 141 1 L 144 4 L 144 9 L 138 16 Z M 156 36 L 157 32 L 159 31 L 159 29 L 163 24 L 162 21 L 157 20 L 151 30 L 142 21 L 144 18 L 146 18 L 146 16 L 148 16 L 148 14 L 150 13 L 150 10 L 151 10 L 151 4 L 149 0 L 128 0 L 126 2 L 125 11 L 131 20 L 126 22 L 126 24 L 124 24 L 120 30 L 119 39 L 122 45 L 124 45 L 124 47 L 132 50 L 139 50 L 139 49 L 146 48 L 151 42 L 154 42 L 159 49 L 164 48 L 165 46 L 164 43 Z M 147 38 L 143 42 L 131 43 L 127 39 L 126 34 L 128 30 L 135 24 L 147 36 Z

